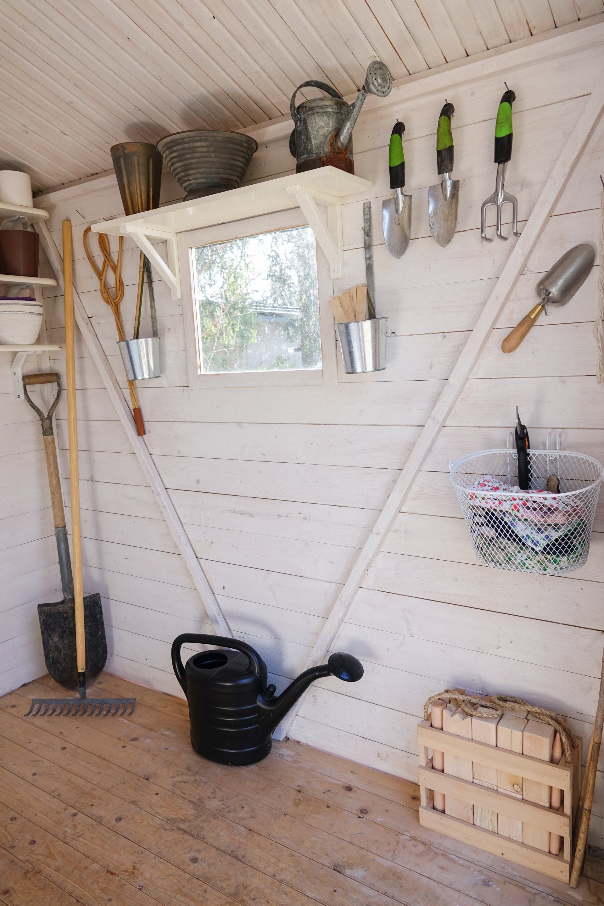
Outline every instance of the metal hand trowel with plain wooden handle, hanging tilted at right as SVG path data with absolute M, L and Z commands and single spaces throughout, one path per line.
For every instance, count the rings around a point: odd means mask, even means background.
M 523 320 L 516 324 L 502 342 L 503 352 L 518 349 L 524 337 L 542 312 L 547 314 L 548 305 L 565 305 L 585 283 L 596 253 L 588 243 L 570 248 L 558 259 L 537 284 L 537 295 L 541 297 Z

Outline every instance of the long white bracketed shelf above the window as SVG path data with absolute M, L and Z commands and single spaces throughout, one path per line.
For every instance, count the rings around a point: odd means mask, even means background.
M 352 176 L 335 167 L 321 167 L 306 173 L 267 179 L 265 182 L 241 186 L 227 192 L 217 192 L 206 198 L 180 201 L 176 205 L 158 207 L 142 214 L 101 220 L 100 223 L 92 224 L 91 228 L 95 233 L 107 233 L 110 236 L 132 236 L 170 287 L 172 298 L 180 299 L 178 233 L 301 207 L 330 263 L 331 277 L 337 280 L 344 275 L 341 199 L 359 193 L 367 196 L 370 188 L 368 179 Z M 318 205 L 327 207 L 327 226 Z M 168 264 L 158 255 L 155 246 L 151 245 L 151 239 L 166 240 Z

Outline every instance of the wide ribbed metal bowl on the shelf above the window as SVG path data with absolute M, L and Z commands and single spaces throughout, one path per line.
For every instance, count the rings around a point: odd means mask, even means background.
M 240 132 L 189 130 L 158 141 L 158 151 L 168 164 L 185 201 L 239 188 L 258 142 Z

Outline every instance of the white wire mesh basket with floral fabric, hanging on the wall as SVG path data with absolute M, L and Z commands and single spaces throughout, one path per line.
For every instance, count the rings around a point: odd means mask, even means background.
M 449 463 L 476 556 L 516 573 L 570 573 L 590 552 L 602 466 L 563 450 L 529 450 L 528 458 L 528 491 L 517 487 L 513 449 L 481 450 Z M 560 481 L 556 494 L 546 490 L 552 475 Z

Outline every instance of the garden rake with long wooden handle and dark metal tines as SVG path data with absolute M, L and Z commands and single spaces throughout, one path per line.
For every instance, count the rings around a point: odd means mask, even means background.
M 78 669 L 77 699 L 32 699 L 25 715 L 45 717 L 53 714 L 89 714 L 96 712 L 115 717 L 134 710 L 136 699 L 87 699 L 86 698 L 86 639 L 84 623 L 84 593 L 81 581 L 81 534 L 80 534 L 80 475 L 78 468 L 78 420 L 75 398 L 75 350 L 73 336 L 73 291 L 72 291 L 72 224 L 62 222 L 63 251 L 63 294 L 65 302 L 65 359 L 67 371 L 67 419 L 69 426 L 69 467 L 72 492 L 72 561 L 73 561 L 73 603 L 75 610 L 75 648 Z M 98 708 L 98 710 L 97 710 Z

